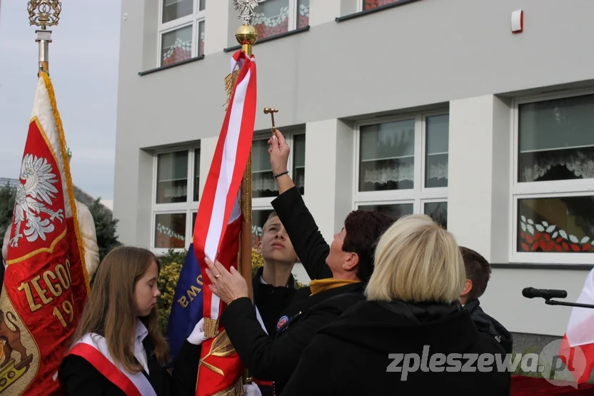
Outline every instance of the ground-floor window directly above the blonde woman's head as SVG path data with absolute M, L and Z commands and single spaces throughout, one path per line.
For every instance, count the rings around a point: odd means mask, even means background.
M 360 123 L 355 208 L 396 220 L 425 213 L 447 228 L 449 122 L 427 113 Z

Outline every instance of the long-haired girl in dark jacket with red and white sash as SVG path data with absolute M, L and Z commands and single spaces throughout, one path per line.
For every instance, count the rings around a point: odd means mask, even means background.
M 169 375 L 156 312 L 159 270 L 150 250 L 121 246 L 106 255 L 59 369 L 65 395 L 195 395 L 203 325 Z

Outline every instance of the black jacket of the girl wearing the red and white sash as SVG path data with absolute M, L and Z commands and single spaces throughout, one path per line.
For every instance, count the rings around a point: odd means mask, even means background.
M 176 359 L 173 376 L 158 364 L 148 337 L 143 345 L 146 350 L 148 372 L 143 371 L 157 396 L 195 396 L 198 378 L 198 360 L 201 346 L 187 340 Z M 110 382 L 91 363 L 78 355 L 64 358 L 59 368 L 59 381 L 65 396 L 126 396 L 124 391 Z

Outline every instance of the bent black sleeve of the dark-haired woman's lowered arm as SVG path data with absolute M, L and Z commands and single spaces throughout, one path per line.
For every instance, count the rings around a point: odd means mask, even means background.
M 262 330 L 248 298 L 233 301 L 223 312 L 221 322 L 241 360 L 258 380 L 286 382 L 301 352 L 316 332 L 336 315 L 314 312 L 290 326 L 276 338 Z

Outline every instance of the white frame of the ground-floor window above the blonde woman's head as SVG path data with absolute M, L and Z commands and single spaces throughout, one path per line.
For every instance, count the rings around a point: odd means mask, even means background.
M 413 213 L 424 213 L 425 203 L 448 202 L 448 187 L 426 187 L 426 153 L 427 153 L 427 118 L 432 116 L 449 116 L 448 109 L 406 113 L 398 116 L 385 116 L 358 121 L 355 126 L 353 155 L 353 209 L 360 205 L 396 205 L 413 203 Z M 415 171 L 414 187 L 408 190 L 359 191 L 361 162 L 361 127 L 390 123 L 395 121 L 415 120 Z M 448 129 L 448 140 L 449 140 Z M 449 161 L 449 145 L 448 145 Z M 420 183 L 420 184 L 419 184 Z M 449 185 L 449 183 L 448 183 Z

